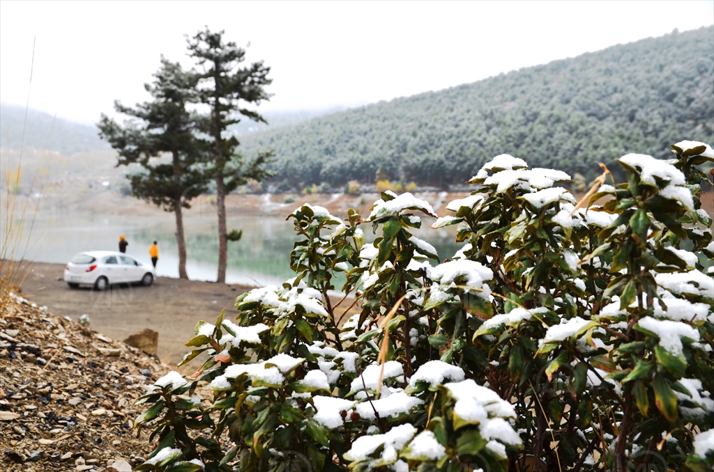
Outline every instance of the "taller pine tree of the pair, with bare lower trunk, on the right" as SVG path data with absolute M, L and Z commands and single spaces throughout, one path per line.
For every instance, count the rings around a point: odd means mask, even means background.
M 212 33 L 208 27 L 193 38 L 186 37 L 189 56 L 196 58 L 203 66 L 198 74 L 198 96 L 210 108 L 203 131 L 211 136 L 213 162 L 209 169 L 216 180 L 216 207 L 218 209 L 218 277 L 217 282 L 226 282 L 228 262 L 228 234 L 226 229 L 226 195 L 248 178 L 263 180 L 271 175 L 265 163 L 272 157 L 272 151 L 258 153 L 251 163 L 243 163 L 243 156 L 236 152 L 240 144 L 235 136 L 226 138 L 223 133 L 229 125 L 241 121 L 238 116 L 246 116 L 257 122 L 267 123 L 255 111 L 241 108 L 241 101 L 255 103 L 268 100 L 264 86 L 270 68 L 263 62 L 239 67 L 245 61 L 246 51 L 236 43 L 223 42 L 223 31 Z

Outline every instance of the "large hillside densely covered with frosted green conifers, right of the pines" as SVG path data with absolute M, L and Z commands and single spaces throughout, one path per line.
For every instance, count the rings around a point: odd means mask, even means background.
M 713 81 L 710 26 L 253 133 L 242 151 L 274 148 L 292 185 L 374 182 L 382 168 L 446 187 L 501 153 L 590 177 L 625 153 L 712 142 Z

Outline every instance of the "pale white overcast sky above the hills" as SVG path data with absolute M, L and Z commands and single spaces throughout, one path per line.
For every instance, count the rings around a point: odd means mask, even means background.
M 92 124 L 208 26 L 271 66 L 258 111 L 360 106 L 714 23 L 714 1 L 0 1 L 0 101 Z M 30 69 L 34 47 L 34 70 Z

